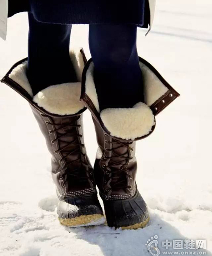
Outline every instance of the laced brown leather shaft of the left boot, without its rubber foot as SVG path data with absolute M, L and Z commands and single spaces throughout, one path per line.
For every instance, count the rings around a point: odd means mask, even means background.
M 64 197 L 95 191 L 92 166 L 83 138 L 83 114 L 52 117 L 31 107 L 52 155 L 52 177 Z

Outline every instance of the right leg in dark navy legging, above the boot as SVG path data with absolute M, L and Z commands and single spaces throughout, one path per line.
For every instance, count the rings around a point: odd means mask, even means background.
M 89 25 L 100 110 L 133 107 L 142 97 L 136 25 Z

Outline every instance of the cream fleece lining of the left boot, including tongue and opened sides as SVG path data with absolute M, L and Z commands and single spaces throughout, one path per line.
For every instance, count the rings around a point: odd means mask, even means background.
M 52 85 L 33 96 L 30 83 L 26 76 L 27 61 L 14 68 L 9 74 L 9 77 L 26 90 L 39 107 L 44 108 L 49 113 L 57 115 L 73 115 L 84 108 L 84 105 L 79 100 L 81 95 L 81 75 L 84 68 L 84 61 L 80 52 L 79 54 L 76 54 L 72 51 L 70 57 L 79 81 L 76 83 Z

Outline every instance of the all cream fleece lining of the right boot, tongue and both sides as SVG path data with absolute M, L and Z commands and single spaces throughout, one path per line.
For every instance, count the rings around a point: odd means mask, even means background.
M 168 88 L 144 63 L 140 62 L 140 68 L 143 74 L 145 103 L 139 102 L 132 108 L 109 108 L 100 113 L 103 124 L 114 137 L 134 140 L 151 132 L 155 119 L 149 107 L 168 91 Z M 94 64 L 91 62 L 86 72 L 85 92 L 96 110 L 100 112 L 93 70 Z

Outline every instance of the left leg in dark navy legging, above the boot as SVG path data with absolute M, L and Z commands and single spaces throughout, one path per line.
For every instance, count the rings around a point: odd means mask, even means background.
M 28 17 L 27 76 L 33 94 L 53 84 L 77 82 L 69 54 L 72 25 L 40 23 L 31 13 Z

